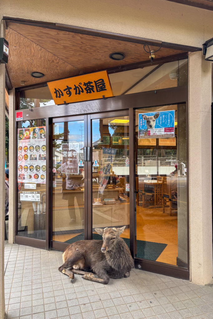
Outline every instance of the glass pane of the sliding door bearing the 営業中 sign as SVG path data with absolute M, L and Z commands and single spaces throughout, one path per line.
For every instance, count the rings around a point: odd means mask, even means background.
M 84 239 L 85 121 L 54 122 L 52 132 L 52 239 Z

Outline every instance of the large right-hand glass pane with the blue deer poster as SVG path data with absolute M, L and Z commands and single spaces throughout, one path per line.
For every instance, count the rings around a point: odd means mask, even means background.
M 186 104 L 135 110 L 136 257 L 187 267 Z

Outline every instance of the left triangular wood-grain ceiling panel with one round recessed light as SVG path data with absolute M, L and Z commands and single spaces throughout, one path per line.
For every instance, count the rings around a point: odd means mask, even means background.
M 80 74 L 79 69 L 10 28 L 6 30 L 6 39 L 10 43 L 6 69 L 12 87 L 19 87 L 20 81 L 25 81 L 25 85 L 31 85 Z M 30 73 L 33 71 L 42 72 L 44 77 L 40 79 L 31 77 Z

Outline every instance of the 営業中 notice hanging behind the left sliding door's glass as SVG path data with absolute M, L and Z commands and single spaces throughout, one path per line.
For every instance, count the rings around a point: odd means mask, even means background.
M 62 144 L 61 173 L 79 174 L 79 143 Z

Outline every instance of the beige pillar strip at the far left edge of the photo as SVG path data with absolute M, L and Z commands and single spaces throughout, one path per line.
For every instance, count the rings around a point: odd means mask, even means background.
M 0 318 L 4 318 L 5 65 L 0 65 Z

